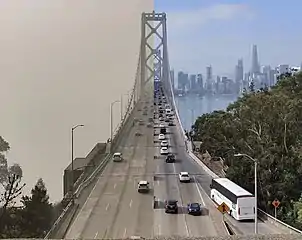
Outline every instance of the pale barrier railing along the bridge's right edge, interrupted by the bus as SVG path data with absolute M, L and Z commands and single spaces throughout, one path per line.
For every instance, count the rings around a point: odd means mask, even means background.
M 218 178 L 217 174 L 215 174 L 210 168 L 208 168 L 205 164 L 202 163 L 202 161 L 194 154 L 193 150 L 192 150 L 192 143 L 189 141 L 189 139 L 187 138 L 186 134 L 185 134 L 185 130 L 183 128 L 183 125 L 181 123 L 181 119 L 179 116 L 179 112 L 177 109 L 177 105 L 176 105 L 176 101 L 175 101 L 175 97 L 174 97 L 174 92 L 173 92 L 173 88 L 172 88 L 172 84 L 171 84 L 171 80 L 169 77 L 169 91 L 171 91 L 171 104 L 173 106 L 173 108 L 175 109 L 175 115 L 176 115 L 176 119 L 177 119 L 177 127 L 181 132 L 183 141 L 185 142 L 186 146 L 187 146 L 187 151 L 189 152 L 189 155 L 191 156 L 191 158 L 193 158 L 212 178 Z M 275 226 L 277 226 L 278 228 L 282 229 L 285 232 L 288 233 L 297 233 L 297 234 L 302 234 L 302 231 L 300 231 L 299 229 L 296 229 L 276 218 L 274 218 L 273 216 L 269 215 L 268 213 L 264 212 L 261 209 L 258 209 L 259 212 L 259 217 L 261 217 L 261 219 L 265 222 L 269 222 L 270 224 L 273 224 Z

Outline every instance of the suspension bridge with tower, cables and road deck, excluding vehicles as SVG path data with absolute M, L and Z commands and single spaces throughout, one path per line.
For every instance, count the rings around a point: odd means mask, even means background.
M 209 196 L 211 180 L 217 176 L 194 155 L 182 127 L 171 83 L 167 17 L 166 13 L 142 13 L 140 55 L 127 111 L 119 128 L 111 134 L 107 154 L 89 175 L 75 179 L 72 200 L 45 238 L 231 239 L 233 234 L 252 239 L 247 236 L 254 234 L 254 222 L 239 222 L 217 210 Z M 174 112 L 174 125 L 167 127 L 166 134 L 170 151 L 176 156 L 172 164 L 160 155 L 158 105 L 154 103 L 158 88 Z M 122 153 L 122 162 L 112 161 L 115 152 Z M 193 181 L 180 184 L 180 172 L 189 172 Z M 150 183 L 149 194 L 137 192 L 140 180 Z M 178 201 L 178 214 L 165 213 L 167 199 Z M 186 213 L 190 202 L 202 204 L 202 216 Z M 301 231 L 269 214 L 258 210 L 258 215 L 259 235 L 267 239 L 274 239 L 269 238 L 274 234 L 282 235 L 282 239 L 300 237 Z

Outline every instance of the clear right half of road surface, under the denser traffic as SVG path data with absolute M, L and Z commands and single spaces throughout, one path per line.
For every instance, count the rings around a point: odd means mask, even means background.
M 156 134 L 159 130 L 156 130 Z M 170 143 L 170 152 L 176 155 L 175 163 L 166 163 L 165 157 L 160 156 L 160 142 L 155 138 L 156 158 L 154 195 L 158 200 L 158 208 L 154 210 L 155 235 L 180 235 L 184 237 L 227 235 L 223 225 L 221 213 L 214 207 L 205 191 L 196 183 L 195 178 L 201 176 L 199 168 L 186 156 L 184 143 L 178 135 L 177 128 L 169 127 L 166 134 Z M 180 183 L 178 173 L 189 172 L 193 178 L 191 183 Z M 166 214 L 164 201 L 175 199 L 179 204 L 179 213 Z M 191 216 L 187 214 L 188 203 L 202 204 L 202 215 Z

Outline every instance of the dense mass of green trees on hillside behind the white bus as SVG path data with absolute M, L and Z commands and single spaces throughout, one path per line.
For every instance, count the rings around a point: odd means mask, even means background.
M 284 75 L 271 90 L 255 92 L 251 86 L 226 111 L 199 117 L 193 138 L 202 141 L 201 151 L 223 157 L 227 177 L 251 192 L 253 163 L 234 154 L 257 159 L 260 206 L 272 212 L 278 198 L 279 217 L 290 222 L 292 202 L 302 192 L 302 75 Z

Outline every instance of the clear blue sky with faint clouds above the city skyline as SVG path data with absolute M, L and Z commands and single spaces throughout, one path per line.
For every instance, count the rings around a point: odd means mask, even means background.
M 258 46 L 261 65 L 300 66 L 302 35 L 296 26 L 302 19 L 296 16 L 301 4 L 157 0 L 155 9 L 167 12 L 169 56 L 174 69 L 197 73 L 212 65 L 216 74 L 232 76 L 239 58 L 251 66 L 253 44 Z M 275 17 L 280 14 L 284 17 Z

